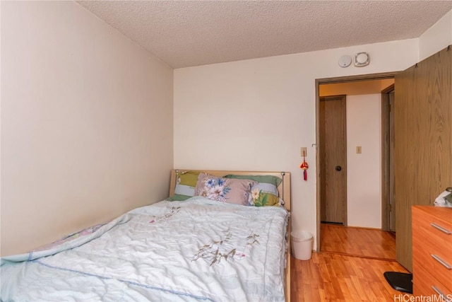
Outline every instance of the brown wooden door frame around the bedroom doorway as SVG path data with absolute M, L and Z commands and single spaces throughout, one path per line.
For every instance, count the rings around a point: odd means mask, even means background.
M 368 81 L 368 80 L 383 80 L 383 79 L 393 79 L 398 71 L 383 72 L 380 74 L 361 74 L 356 76 L 337 76 L 333 78 L 323 78 L 316 79 L 316 251 L 320 252 L 321 247 L 321 216 L 320 216 L 320 157 L 319 157 L 319 107 L 320 107 L 320 95 L 319 95 L 319 85 L 321 84 L 331 84 L 331 83 L 346 83 L 346 82 L 357 82 L 357 81 Z

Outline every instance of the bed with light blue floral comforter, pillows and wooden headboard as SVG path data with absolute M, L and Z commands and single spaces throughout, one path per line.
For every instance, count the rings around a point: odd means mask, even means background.
M 0 300 L 290 301 L 290 173 L 172 170 L 170 181 L 169 199 L 1 258 Z

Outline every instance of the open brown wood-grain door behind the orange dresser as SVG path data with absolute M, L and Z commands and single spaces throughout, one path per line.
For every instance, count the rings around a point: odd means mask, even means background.
M 452 49 L 396 75 L 396 257 L 412 270 L 411 206 L 452 186 Z

